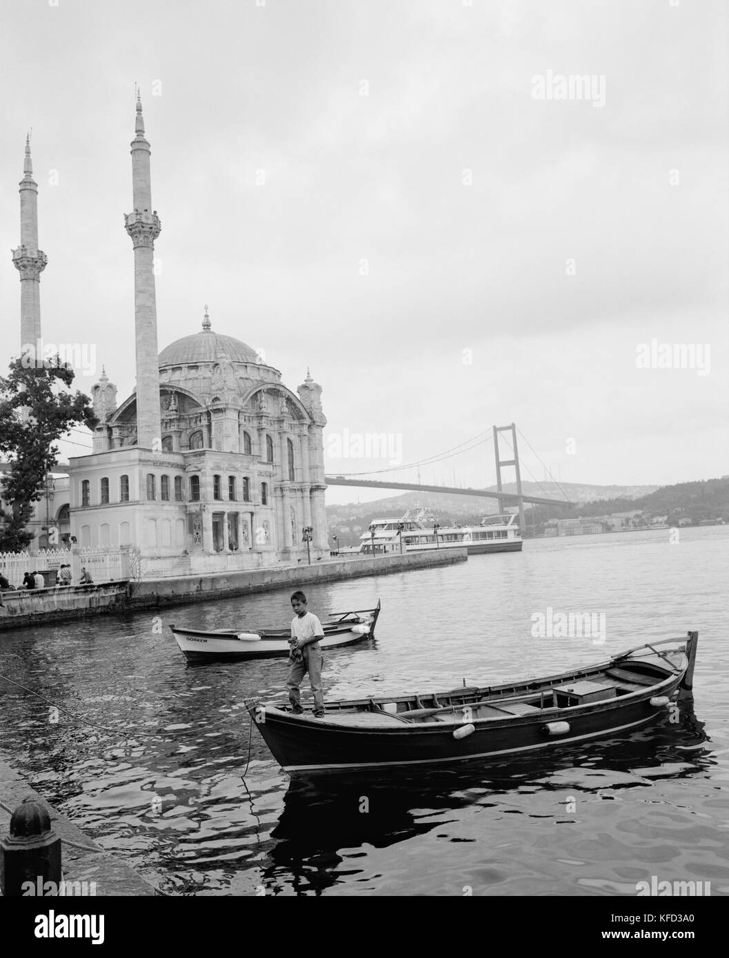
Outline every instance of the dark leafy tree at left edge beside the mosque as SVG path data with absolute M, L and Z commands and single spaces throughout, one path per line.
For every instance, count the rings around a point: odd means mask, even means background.
M 8 509 L 0 509 L 0 551 L 19 552 L 33 540 L 27 526 L 46 475 L 59 461 L 60 437 L 71 426 L 93 429 L 98 422 L 91 400 L 68 391 L 73 379 L 59 356 L 34 365 L 13 359 L 10 374 L 0 376 L 0 453 L 11 467 L 2 479 Z

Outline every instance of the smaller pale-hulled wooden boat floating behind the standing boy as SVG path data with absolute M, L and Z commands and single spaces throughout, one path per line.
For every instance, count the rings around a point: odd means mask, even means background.
M 350 612 L 332 612 L 322 622 L 322 649 L 350 646 L 364 638 L 372 638 L 380 615 L 380 602 L 374 608 Z M 199 628 L 170 626 L 177 648 L 191 662 L 221 659 L 286 657 L 289 654 L 291 625 L 284 628 L 256 629 L 250 632 L 218 630 L 205 632 Z

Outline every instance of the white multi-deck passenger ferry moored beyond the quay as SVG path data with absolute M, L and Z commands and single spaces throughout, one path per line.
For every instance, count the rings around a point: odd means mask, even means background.
M 430 529 L 425 525 L 426 521 L 433 523 Z M 422 509 L 409 510 L 401 519 L 373 519 L 367 531 L 360 536 L 359 548 L 353 548 L 352 552 L 371 556 L 373 544 L 376 556 L 399 552 L 401 527 L 403 552 L 452 549 L 463 545 L 467 547 L 469 556 L 484 552 L 522 551 L 522 535 L 515 514 L 486 515 L 478 526 L 435 528 L 436 525 L 435 515 L 429 515 Z

